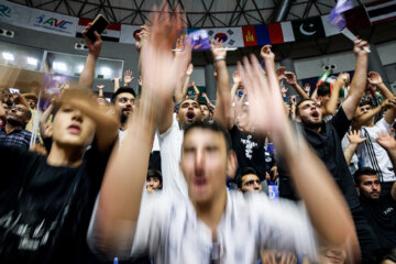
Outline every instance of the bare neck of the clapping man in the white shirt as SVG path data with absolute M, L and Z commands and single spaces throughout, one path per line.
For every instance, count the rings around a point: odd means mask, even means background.
M 217 228 L 226 211 L 227 189 L 223 188 L 211 201 L 196 204 L 193 201 L 197 217 L 212 231 L 212 240 L 217 241 Z

